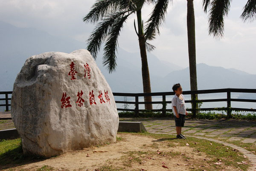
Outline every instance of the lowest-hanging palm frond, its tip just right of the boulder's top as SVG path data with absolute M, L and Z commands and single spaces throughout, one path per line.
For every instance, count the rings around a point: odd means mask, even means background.
M 103 55 L 103 65 L 106 66 L 109 73 L 115 71 L 116 69 L 116 51 L 118 46 L 118 37 L 123 27 L 123 23 L 132 12 L 119 17 L 116 22 L 111 26 L 111 30 L 109 32 L 108 40 L 104 47 L 104 55 Z

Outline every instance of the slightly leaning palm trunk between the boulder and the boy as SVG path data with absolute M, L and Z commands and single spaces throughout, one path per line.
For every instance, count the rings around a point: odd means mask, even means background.
M 141 71 L 142 71 L 142 80 L 143 80 L 143 92 L 151 93 L 151 85 L 150 85 L 150 76 L 148 69 L 148 59 L 147 59 L 147 51 L 145 44 L 145 36 L 143 33 L 143 23 L 141 20 L 141 10 L 137 11 L 137 20 L 138 20 L 138 37 L 139 37 L 139 45 L 140 45 L 140 57 L 141 57 Z M 144 96 L 145 102 L 152 102 L 151 96 Z M 145 104 L 146 110 L 153 109 L 152 104 Z

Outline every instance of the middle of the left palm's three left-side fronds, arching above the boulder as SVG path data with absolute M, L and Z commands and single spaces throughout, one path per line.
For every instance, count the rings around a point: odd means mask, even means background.
M 91 33 L 87 40 L 87 50 L 90 51 L 94 59 L 96 59 L 98 51 L 100 50 L 102 42 L 108 36 L 111 27 L 122 18 L 128 11 L 118 11 L 114 14 L 108 15 L 100 22 Z

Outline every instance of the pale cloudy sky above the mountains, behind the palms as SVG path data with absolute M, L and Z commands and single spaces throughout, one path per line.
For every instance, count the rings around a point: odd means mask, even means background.
M 214 38 L 208 34 L 208 19 L 202 9 L 202 0 L 194 0 L 197 63 L 256 74 L 256 21 L 244 23 L 240 19 L 246 2 L 232 1 L 229 14 L 225 17 L 224 37 Z M 73 38 L 84 42 L 86 48 L 86 40 L 94 25 L 84 23 L 82 19 L 93 3 L 95 0 L 0 0 L 0 21 L 17 27 L 37 28 L 58 37 Z M 152 8 L 143 7 L 144 21 L 148 20 Z M 160 35 L 150 42 L 156 46 L 152 54 L 183 68 L 189 66 L 186 9 L 186 0 L 173 0 L 169 4 L 165 23 L 160 28 Z M 134 19 L 135 15 L 127 20 L 119 37 L 119 47 L 129 52 L 139 51 Z

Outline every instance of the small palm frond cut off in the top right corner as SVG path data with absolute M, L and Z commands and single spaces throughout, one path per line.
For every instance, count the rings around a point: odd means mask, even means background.
M 247 20 L 253 21 L 256 19 L 256 0 L 248 0 L 244 6 L 244 11 L 241 14 L 241 19 L 246 22 Z

